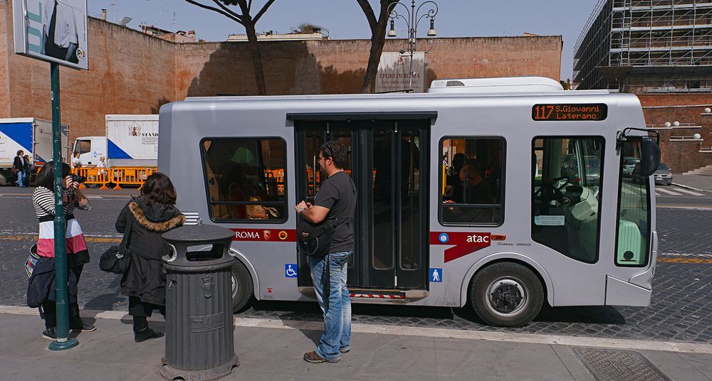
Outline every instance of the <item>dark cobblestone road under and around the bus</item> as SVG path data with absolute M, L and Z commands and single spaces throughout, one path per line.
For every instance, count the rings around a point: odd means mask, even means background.
M 681 342 L 712 342 L 712 194 L 692 195 L 658 188 L 659 263 L 651 306 L 544 308 L 525 328 L 484 325 L 471 308 L 422 308 L 356 305 L 360 323 L 430 326 L 481 331 L 543 333 L 604 338 L 636 338 Z M 32 189 L 0 188 L 0 305 L 25 304 L 23 262 L 36 237 L 37 220 L 29 195 Z M 114 220 L 137 190 L 90 190 L 92 210 L 78 212 L 90 252 L 98 253 L 118 237 Z M 118 293 L 120 278 L 106 274 L 95 263 L 85 268 L 80 304 L 93 310 L 125 311 L 127 300 Z M 319 321 L 316 304 L 259 302 L 241 316 Z

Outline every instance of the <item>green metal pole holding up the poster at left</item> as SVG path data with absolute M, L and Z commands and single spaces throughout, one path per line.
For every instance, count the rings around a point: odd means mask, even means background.
M 50 350 L 66 350 L 79 344 L 69 338 L 69 304 L 66 255 L 66 220 L 62 200 L 62 124 L 59 112 L 59 65 L 50 64 L 52 97 L 52 161 L 54 163 L 54 282 L 57 289 L 57 340 Z

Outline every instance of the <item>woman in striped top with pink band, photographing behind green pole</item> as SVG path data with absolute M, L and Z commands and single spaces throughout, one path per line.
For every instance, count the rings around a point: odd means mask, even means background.
M 77 284 L 85 263 L 89 262 L 89 252 L 79 222 L 74 218 L 74 210 L 89 210 L 89 199 L 79 190 L 70 176 L 70 169 L 62 163 L 63 212 L 66 219 L 67 279 L 69 284 L 69 328 L 73 331 L 94 331 L 96 328 L 85 324 L 79 317 Z M 37 254 L 40 257 L 28 281 L 27 305 L 38 307 L 45 321 L 44 338 L 57 338 L 56 288 L 54 282 L 54 163 L 46 163 L 37 176 L 37 188 L 32 194 L 32 203 L 39 220 Z

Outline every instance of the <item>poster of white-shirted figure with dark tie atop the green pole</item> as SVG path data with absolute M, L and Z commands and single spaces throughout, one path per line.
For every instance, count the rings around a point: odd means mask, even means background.
M 15 53 L 88 69 L 87 0 L 13 0 Z

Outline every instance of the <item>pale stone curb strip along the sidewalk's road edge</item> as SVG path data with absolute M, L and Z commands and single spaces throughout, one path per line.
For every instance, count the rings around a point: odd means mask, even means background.
M 36 308 L 21 306 L 0 306 L 0 313 L 13 315 L 37 316 Z M 125 311 L 88 311 L 83 310 L 82 316 L 94 316 L 120 320 L 127 316 Z M 153 320 L 153 319 L 152 319 Z M 323 321 L 292 321 L 261 318 L 235 317 L 236 327 L 244 328 L 276 328 L 290 330 L 323 331 Z M 672 341 L 629 340 L 620 338 L 590 338 L 580 336 L 540 335 L 533 333 L 508 333 L 466 331 L 448 328 L 385 326 L 382 324 L 352 323 L 351 331 L 355 333 L 373 333 L 377 335 L 416 336 L 426 338 L 456 338 L 464 340 L 486 340 L 508 343 L 532 343 L 546 345 L 585 346 L 597 348 L 614 348 L 626 350 L 659 350 L 676 353 L 712 354 L 712 345 L 701 343 L 677 343 Z

